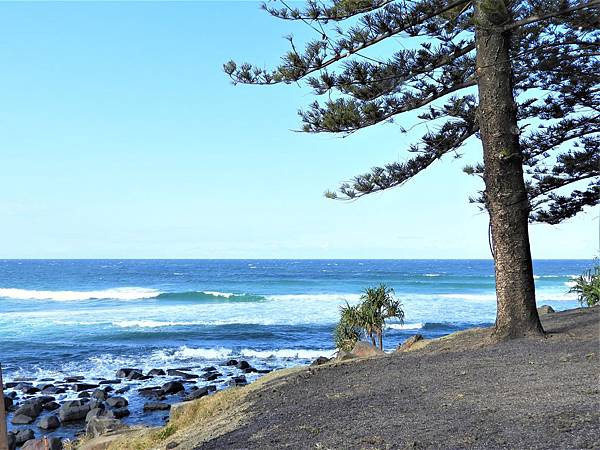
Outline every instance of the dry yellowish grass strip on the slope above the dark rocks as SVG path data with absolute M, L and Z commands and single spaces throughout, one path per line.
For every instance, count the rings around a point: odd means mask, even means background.
M 169 442 L 177 442 L 177 450 L 188 450 L 200 442 L 207 441 L 232 431 L 252 418 L 246 397 L 250 392 L 284 383 L 287 375 L 302 368 L 277 370 L 245 387 L 234 387 L 219 391 L 199 400 L 177 405 L 171 412 L 169 423 L 162 428 L 132 430 L 114 437 L 107 450 L 151 450 L 164 449 Z M 93 448 L 95 440 L 80 445 L 85 450 Z

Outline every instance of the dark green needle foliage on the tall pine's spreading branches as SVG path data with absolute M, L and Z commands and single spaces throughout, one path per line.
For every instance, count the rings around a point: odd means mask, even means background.
M 289 37 L 273 69 L 230 61 L 224 70 L 234 83 L 306 82 L 322 98 L 300 111 L 309 133 L 346 135 L 386 122 L 405 131 L 414 124 L 402 115 L 418 111 L 426 132 L 398 149 L 412 156 L 325 193 L 356 199 L 400 186 L 446 155 L 460 157 L 480 138 L 476 1 L 486 26 L 510 36 L 529 220 L 560 223 L 600 198 L 600 0 L 308 0 L 301 8 L 269 1 L 266 12 L 311 27 L 315 38 L 301 48 Z M 403 45 L 373 57 L 384 41 Z M 485 167 L 465 172 L 483 177 Z M 486 207 L 483 191 L 471 200 Z

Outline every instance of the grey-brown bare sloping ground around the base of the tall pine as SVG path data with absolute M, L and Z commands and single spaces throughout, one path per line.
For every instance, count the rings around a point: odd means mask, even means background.
M 479 329 L 307 368 L 249 392 L 196 449 L 600 448 L 600 308 L 542 316 L 545 338 Z

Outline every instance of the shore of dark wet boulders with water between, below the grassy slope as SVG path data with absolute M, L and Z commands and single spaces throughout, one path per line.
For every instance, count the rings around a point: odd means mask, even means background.
M 113 379 L 72 375 L 7 380 L 9 450 L 59 450 L 63 442 L 81 435 L 94 437 L 135 424 L 161 425 L 173 404 L 243 386 L 268 372 L 231 359 L 220 365 L 155 368 L 146 373 L 118 368 Z

